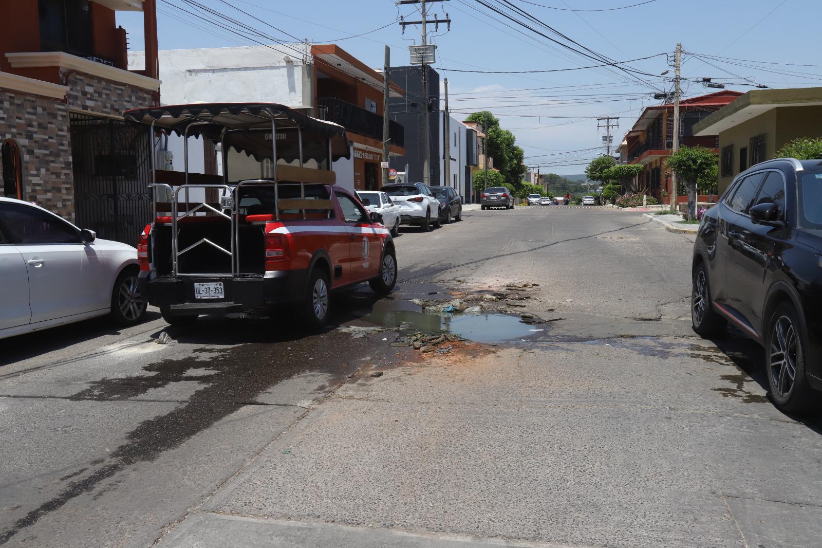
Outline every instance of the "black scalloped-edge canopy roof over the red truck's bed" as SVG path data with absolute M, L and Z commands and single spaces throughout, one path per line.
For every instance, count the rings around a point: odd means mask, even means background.
M 145 109 L 127 110 L 123 116 L 133 122 L 162 128 L 182 135 L 186 128 L 190 137 L 205 137 L 219 142 L 224 129 L 239 130 L 229 133 L 229 146 L 254 156 L 257 160 L 271 157 L 271 128 L 273 118 L 277 128 L 277 156 L 286 161 L 298 157 L 297 128 L 302 130 L 303 159 L 320 161 L 326 151 L 316 145 L 316 137 L 327 137 L 331 142 L 333 160 L 349 158 L 349 144 L 345 128 L 333 122 L 311 118 L 283 104 L 276 103 L 194 103 L 173 104 Z M 259 130 L 259 131 L 243 131 Z

